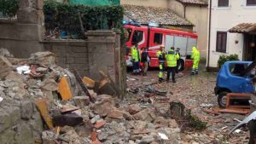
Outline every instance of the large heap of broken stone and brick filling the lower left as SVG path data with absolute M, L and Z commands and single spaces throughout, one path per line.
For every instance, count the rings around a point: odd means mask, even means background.
M 5 51 L 0 58 L 3 143 L 181 143 L 177 122 L 152 103 L 120 101 L 118 93 L 93 87 L 87 89 L 90 100 L 50 52 L 16 59 Z

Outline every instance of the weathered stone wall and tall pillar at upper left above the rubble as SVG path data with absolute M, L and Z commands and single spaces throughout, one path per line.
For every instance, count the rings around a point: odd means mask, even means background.
M 17 20 L 0 20 L 0 47 L 19 58 L 42 51 L 44 45 L 39 41 L 44 32 L 43 3 L 43 0 L 22 0 Z

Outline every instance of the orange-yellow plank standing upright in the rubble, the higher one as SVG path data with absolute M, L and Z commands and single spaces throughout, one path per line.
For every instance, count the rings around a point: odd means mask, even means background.
M 73 98 L 72 92 L 67 83 L 67 78 L 65 76 L 61 78 L 61 81 L 58 84 L 58 92 L 61 94 L 61 98 L 64 101 L 67 101 Z

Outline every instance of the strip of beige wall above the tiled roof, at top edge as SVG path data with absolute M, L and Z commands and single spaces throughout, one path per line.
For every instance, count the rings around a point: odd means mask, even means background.
M 121 0 L 121 4 L 129 4 L 129 5 L 141 5 L 147 7 L 168 7 L 169 0 Z

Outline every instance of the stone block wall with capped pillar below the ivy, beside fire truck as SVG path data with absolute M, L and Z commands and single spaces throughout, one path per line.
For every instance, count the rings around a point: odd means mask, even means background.
M 125 91 L 125 49 L 120 49 L 120 35 L 112 31 L 91 31 L 87 40 L 44 41 L 44 50 L 55 54 L 56 64 L 76 68 L 81 76 L 100 80 L 99 71 L 108 73 Z M 122 62 L 123 61 L 123 62 Z

